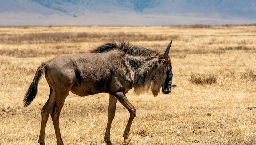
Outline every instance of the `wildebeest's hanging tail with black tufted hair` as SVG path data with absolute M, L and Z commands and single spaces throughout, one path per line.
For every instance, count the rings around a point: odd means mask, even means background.
M 47 68 L 47 64 L 45 62 L 43 62 L 37 69 L 37 72 L 35 74 L 34 80 L 32 81 L 32 83 L 30 84 L 25 97 L 23 99 L 23 103 L 24 103 L 24 107 L 27 107 L 30 105 L 30 103 L 33 101 L 33 99 L 35 99 L 36 95 L 37 95 L 37 85 L 38 85 L 38 81 L 41 78 L 42 74 L 45 72 Z

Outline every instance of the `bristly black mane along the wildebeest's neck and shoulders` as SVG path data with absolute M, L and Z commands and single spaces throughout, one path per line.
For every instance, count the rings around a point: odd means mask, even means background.
M 123 40 L 119 40 L 118 43 L 111 41 L 108 43 L 104 43 L 103 45 L 99 46 L 98 48 L 96 48 L 95 50 L 92 50 L 92 53 L 101 53 L 104 50 L 120 50 L 122 52 L 124 52 L 125 54 L 129 54 L 132 56 L 143 56 L 143 57 L 156 57 L 158 55 L 160 55 L 159 52 L 156 52 L 154 50 L 145 48 L 145 47 L 140 47 L 140 46 L 136 46 L 134 44 L 130 44 L 129 42 L 123 41 Z

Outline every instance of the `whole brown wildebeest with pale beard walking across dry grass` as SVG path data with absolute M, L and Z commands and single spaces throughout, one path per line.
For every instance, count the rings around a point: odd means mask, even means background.
M 45 126 L 51 114 L 57 144 L 63 144 L 59 117 L 69 91 L 79 96 L 98 93 L 109 94 L 108 123 L 105 142 L 111 145 L 110 127 L 115 116 L 117 100 L 130 112 L 129 121 L 124 130 L 124 142 L 128 137 L 136 109 L 125 94 L 134 88 L 136 94 L 152 90 L 154 96 L 162 92 L 171 92 L 172 70 L 168 56 L 171 42 L 163 54 L 156 51 L 130 45 L 125 41 L 109 42 L 95 50 L 83 53 L 62 54 L 43 62 L 24 97 L 24 106 L 30 105 L 37 94 L 37 84 L 42 74 L 50 87 L 50 96 L 41 109 L 42 122 L 38 143 L 45 144 Z

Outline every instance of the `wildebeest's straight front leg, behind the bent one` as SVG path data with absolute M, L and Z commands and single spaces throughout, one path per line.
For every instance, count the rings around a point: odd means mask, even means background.
M 116 113 L 116 102 L 117 102 L 117 99 L 114 96 L 109 95 L 108 124 L 107 124 L 106 133 L 105 133 L 105 142 L 108 145 L 112 145 L 112 143 L 110 141 L 110 128 L 111 128 L 111 123 L 112 123 L 112 121 L 115 117 L 115 113 Z

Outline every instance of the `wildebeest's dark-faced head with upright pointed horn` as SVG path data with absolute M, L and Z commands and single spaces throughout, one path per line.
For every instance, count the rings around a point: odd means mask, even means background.
M 164 94 L 169 94 L 171 93 L 171 84 L 172 84 L 172 68 L 171 68 L 171 59 L 169 57 L 169 50 L 171 47 L 171 42 L 169 45 L 166 47 L 164 50 L 163 54 L 160 55 L 157 61 L 157 67 L 159 68 L 158 71 L 156 72 L 158 76 L 162 76 L 159 79 L 160 82 L 162 83 L 162 92 Z

